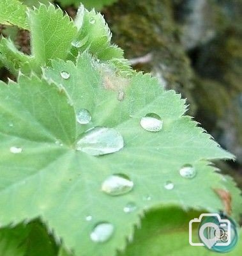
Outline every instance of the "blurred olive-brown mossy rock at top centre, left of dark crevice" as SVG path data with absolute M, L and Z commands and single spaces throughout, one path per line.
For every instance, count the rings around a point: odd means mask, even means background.
M 183 93 L 193 101 L 193 72 L 181 45 L 180 31 L 174 20 L 174 5 L 170 0 L 120 0 L 105 10 L 114 35 L 114 42 L 125 49 L 128 59 L 152 53 L 149 63 L 135 66 L 138 70 L 162 76 L 167 88 Z M 192 104 L 192 113 L 195 104 Z

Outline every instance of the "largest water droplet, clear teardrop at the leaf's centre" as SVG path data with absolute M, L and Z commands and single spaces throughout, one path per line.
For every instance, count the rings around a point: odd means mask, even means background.
M 86 131 L 77 141 L 77 150 L 91 156 L 101 156 L 121 150 L 123 137 L 114 128 L 94 127 Z

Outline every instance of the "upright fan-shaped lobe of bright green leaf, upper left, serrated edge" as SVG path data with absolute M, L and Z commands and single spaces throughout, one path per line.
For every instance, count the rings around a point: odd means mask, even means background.
M 65 59 L 76 28 L 68 15 L 50 4 L 29 11 L 32 54 L 38 65 L 49 65 L 51 59 Z

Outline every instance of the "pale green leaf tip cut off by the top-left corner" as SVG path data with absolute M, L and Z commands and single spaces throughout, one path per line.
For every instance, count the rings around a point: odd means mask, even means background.
M 18 0 L 0 1 L 0 24 L 15 25 L 28 29 L 26 6 Z

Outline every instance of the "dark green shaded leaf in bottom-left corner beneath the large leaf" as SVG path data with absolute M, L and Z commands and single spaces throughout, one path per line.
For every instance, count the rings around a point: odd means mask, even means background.
M 1 256 L 55 256 L 57 246 L 38 221 L 0 229 Z

